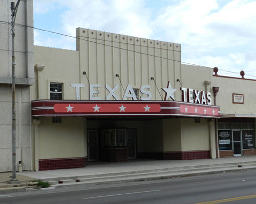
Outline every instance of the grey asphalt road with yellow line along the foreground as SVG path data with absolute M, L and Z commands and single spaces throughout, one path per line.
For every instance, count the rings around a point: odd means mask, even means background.
M 256 203 L 256 171 L 0 195 L 1 204 Z

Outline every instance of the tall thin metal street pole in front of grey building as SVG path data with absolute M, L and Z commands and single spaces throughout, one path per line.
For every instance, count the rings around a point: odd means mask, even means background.
M 16 19 L 17 8 L 20 0 L 16 6 L 11 2 L 11 16 L 12 16 L 12 179 L 10 183 L 18 183 L 16 179 L 16 107 L 15 107 L 15 49 L 14 49 L 14 25 Z

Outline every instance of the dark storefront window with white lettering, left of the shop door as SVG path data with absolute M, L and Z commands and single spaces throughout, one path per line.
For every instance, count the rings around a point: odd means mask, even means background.
M 219 149 L 231 150 L 232 149 L 232 135 L 231 130 L 219 130 Z

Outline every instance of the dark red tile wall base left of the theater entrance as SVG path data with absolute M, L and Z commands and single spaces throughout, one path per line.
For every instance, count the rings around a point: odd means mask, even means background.
M 87 157 L 39 159 L 39 171 L 80 168 L 87 165 Z

